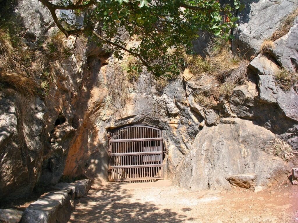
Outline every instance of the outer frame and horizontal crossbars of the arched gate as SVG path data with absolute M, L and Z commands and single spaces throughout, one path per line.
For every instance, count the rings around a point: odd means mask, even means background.
M 153 129 L 156 131 L 159 131 L 159 137 L 157 138 L 133 138 L 133 139 L 112 139 L 112 134 L 115 133 L 118 130 L 126 129 L 126 128 L 133 128 L 133 127 L 143 127 L 148 129 Z M 164 165 L 163 165 L 163 142 L 162 142 L 162 130 L 160 128 L 151 126 L 151 125 L 145 125 L 145 124 L 130 124 L 130 125 L 124 125 L 120 126 L 114 129 L 108 130 L 108 181 L 109 182 L 117 182 L 117 181 L 139 181 L 139 180 L 159 180 L 164 179 Z M 135 153 L 112 153 L 111 145 L 112 143 L 119 143 L 119 142 L 149 142 L 149 141 L 159 141 L 159 151 L 151 151 L 151 152 L 135 152 Z M 160 155 L 159 162 L 160 164 L 144 164 L 144 165 L 123 165 L 123 166 L 113 166 L 111 165 L 111 157 L 113 156 L 134 156 L 134 155 Z M 146 167 L 160 167 L 160 175 L 159 177 L 138 177 L 138 178 L 111 178 L 112 169 L 117 168 L 146 168 Z

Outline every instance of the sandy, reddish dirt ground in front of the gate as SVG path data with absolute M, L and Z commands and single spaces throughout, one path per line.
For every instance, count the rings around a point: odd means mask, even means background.
M 298 185 L 280 182 L 264 191 L 190 192 L 168 180 L 94 185 L 77 200 L 69 223 L 294 223 Z

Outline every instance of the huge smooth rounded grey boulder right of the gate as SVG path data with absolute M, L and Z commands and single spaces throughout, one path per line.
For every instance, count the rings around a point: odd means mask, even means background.
M 287 164 L 263 150 L 274 146 L 275 135 L 253 121 L 221 119 L 204 126 L 182 160 L 173 183 L 186 189 L 229 189 L 226 176 L 254 173 L 254 183 L 265 184 L 287 172 Z

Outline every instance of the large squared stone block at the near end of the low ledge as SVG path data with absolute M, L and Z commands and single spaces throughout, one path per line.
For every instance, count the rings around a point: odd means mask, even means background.
M 67 191 L 56 191 L 31 203 L 24 211 L 21 223 L 66 223 L 72 206 Z

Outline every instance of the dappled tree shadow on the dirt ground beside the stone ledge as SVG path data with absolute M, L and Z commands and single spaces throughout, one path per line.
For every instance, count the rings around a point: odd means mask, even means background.
M 152 202 L 131 202 L 130 198 L 131 194 L 121 188 L 121 183 L 93 188 L 87 197 L 78 200 L 69 222 L 181 223 L 194 220 L 170 209 L 160 209 Z

